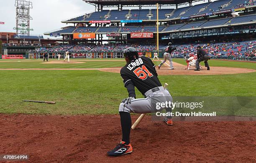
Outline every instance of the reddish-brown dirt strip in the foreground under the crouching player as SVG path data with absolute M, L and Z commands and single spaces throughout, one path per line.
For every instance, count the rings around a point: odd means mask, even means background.
M 138 115 L 132 116 L 133 122 Z M 184 122 L 146 116 L 131 131 L 133 153 L 106 152 L 121 139 L 120 117 L 0 114 L 0 151 L 30 156 L 28 163 L 224 163 L 256 161 L 256 123 Z M 253 136 L 254 135 L 254 136 Z

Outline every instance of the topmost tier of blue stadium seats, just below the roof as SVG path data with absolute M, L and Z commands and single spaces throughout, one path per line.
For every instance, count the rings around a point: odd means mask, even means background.
M 99 2 L 98 0 L 92 0 Z M 100 2 L 103 2 L 101 0 Z M 117 4 L 120 0 L 110 0 Z M 130 0 L 129 0 L 130 1 Z M 133 1 L 133 0 L 131 0 Z M 105 2 L 105 1 L 104 1 Z M 107 2 L 109 2 L 107 0 Z M 123 0 L 122 0 L 123 2 Z M 125 0 L 127 2 L 127 0 Z M 141 1 L 138 1 L 141 2 Z M 172 2 L 172 0 L 170 1 Z M 202 17 L 207 15 L 217 15 L 220 13 L 235 12 L 239 10 L 246 10 L 251 7 L 256 7 L 255 0 L 218 0 L 214 2 L 200 3 L 194 6 L 181 7 L 176 9 L 160 9 L 159 21 L 168 21 L 175 19 L 188 19 L 190 17 Z M 104 8 L 103 8 L 104 9 Z M 142 9 L 142 10 L 100 10 L 92 12 L 79 17 L 62 21 L 63 23 L 78 23 L 90 22 L 92 20 L 110 20 L 111 22 L 120 22 L 120 20 L 143 20 L 155 21 L 155 9 Z

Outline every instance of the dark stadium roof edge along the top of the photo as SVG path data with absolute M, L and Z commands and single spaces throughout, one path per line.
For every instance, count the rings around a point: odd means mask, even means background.
M 191 3 L 197 0 L 83 0 L 91 5 L 178 5 L 182 3 Z

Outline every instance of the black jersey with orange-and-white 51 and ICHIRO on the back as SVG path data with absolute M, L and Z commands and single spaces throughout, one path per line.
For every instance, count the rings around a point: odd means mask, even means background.
M 139 57 L 126 64 L 120 70 L 125 87 L 132 83 L 144 95 L 146 91 L 162 86 L 156 73 L 155 65 L 147 57 Z

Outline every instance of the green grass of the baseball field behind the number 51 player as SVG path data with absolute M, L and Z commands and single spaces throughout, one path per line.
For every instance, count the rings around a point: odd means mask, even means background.
M 3 60 L 1 60 L 3 61 Z M 1 62 L 0 68 L 103 68 L 120 67 L 124 61 L 86 64 L 41 64 Z M 174 62 L 186 64 L 182 59 Z M 158 61 L 155 62 L 157 64 Z M 210 66 L 256 69 L 256 63 L 210 60 Z M 120 101 L 127 97 L 118 73 L 98 70 L 1 70 L 0 113 L 13 114 L 118 114 Z M 159 76 L 169 83 L 172 96 L 256 96 L 256 73 Z M 203 83 L 202 87 L 198 83 Z M 136 90 L 137 91 L 137 90 Z M 143 96 L 137 91 L 137 98 Z M 56 104 L 22 102 L 22 99 L 56 101 Z M 225 115 L 219 111 L 219 115 Z M 241 110 L 241 116 L 256 116 L 255 109 Z

